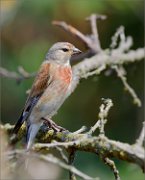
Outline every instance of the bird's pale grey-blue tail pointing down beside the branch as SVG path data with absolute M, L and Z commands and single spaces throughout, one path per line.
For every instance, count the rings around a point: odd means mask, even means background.
M 37 132 L 40 129 L 42 123 L 33 123 L 27 126 L 27 135 L 26 135 L 26 142 L 27 142 L 27 150 L 29 150 L 34 142 Z

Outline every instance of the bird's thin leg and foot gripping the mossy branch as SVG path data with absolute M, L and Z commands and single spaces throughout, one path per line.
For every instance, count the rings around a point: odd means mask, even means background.
M 49 118 L 42 118 L 42 120 L 44 121 L 44 124 L 46 126 L 49 126 L 50 128 L 52 128 L 54 131 L 56 132 L 60 132 L 60 131 L 66 131 L 65 128 L 58 126 L 52 119 Z

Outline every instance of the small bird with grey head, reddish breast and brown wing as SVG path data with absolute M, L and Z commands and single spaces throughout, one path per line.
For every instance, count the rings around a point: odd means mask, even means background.
M 69 42 L 57 42 L 48 50 L 13 129 L 17 135 L 26 122 L 27 150 L 31 149 L 43 118 L 51 119 L 69 96 L 72 85 L 70 59 L 79 53 L 81 51 Z

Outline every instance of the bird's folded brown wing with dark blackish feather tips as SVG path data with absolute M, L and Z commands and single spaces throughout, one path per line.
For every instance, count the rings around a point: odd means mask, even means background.
M 40 99 L 40 97 L 42 96 L 43 92 L 45 91 L 45 89 L 48 86 L 48 82 L 50 79 L 49 76 L 49 70 L 50 70 L 50 64 L 49 63 L 43 63 L 41 65 L 41 68 L 34 80 L 32 89 L 30 91 L 30 94 L 27 98 L 25 107 L 20 115 L 20 118 L 18 119 L 13 132 L 16 134 L 21 125 L 23 124 L 23 122 L 25 120 L 27 120 L 27 118 L 29 117 L 29 115 L 32 112 L 33 107 L 36 105 L 36 103 L 38 102 L 38 100 Z

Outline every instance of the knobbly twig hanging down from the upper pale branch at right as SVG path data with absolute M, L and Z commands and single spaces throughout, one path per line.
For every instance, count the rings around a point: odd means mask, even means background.
M 115 71 L 117 72 L 118 77 L 121 79 L 125 90 L 127 90 L 129 92 L 129 94 L 133 97 L 133 102 L 134 104 L 136 104 L 137 106 L 141 106 L 141 101 L 138 98 L 137 94 L 135 93 L 134 89 L 128 84 L 127 82 L 127 78 L 124 75 L 124 70 L 122 69 L 122 66 L 112 66 L 113 69 L 115 69 Z

